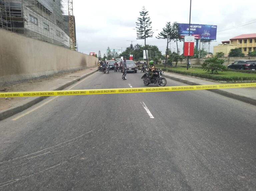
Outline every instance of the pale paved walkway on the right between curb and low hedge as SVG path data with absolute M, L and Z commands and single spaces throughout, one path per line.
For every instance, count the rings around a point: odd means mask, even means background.
M 209 85 L 209 84 L 229 84 L 230 83 L 230 82 L 225 82 L 225 83 L 215 82 L 213 80 L 207 80 L 207 79 L 197 78 L 193 76 L 186 76 L 186 75 L 176 74 L 172 72 L 164 72 L 163 76 L 175 81 L 188 84 L 188 85 Z M 248 82 L 240 82 L 240 83 L 248 83 Z M 230 97 L 239 101 L 243 101 L 252 105 L 256 105 L 256 87 L 211 89 L 208 91 L 221 94 L 223 96 Z

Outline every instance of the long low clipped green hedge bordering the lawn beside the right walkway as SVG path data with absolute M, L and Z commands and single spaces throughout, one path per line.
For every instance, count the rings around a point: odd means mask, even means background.
M 178 71 L 178 70 L 166 69 L 166 68 L 162 68 L 162 70 L 163 71 L 168 71 L 168 72 L 173 72 L 173 73 L 178 73 L 178 74 L 200 77 L 200 78 L 207 78 L 207 79 L 216 80 L 216 81 L 250 81 L 250 80 L 256 80 L 256 76 L 255 77 L 240 77 L 240 76 L 226 77 L 226 76 L 220 76 L 220 75 L 218 76 L 218 75 L 212 75 L 212 74 L 207 74 L 207 73 L 192 73 L 192 72 L 187 72 L 187 71 Z

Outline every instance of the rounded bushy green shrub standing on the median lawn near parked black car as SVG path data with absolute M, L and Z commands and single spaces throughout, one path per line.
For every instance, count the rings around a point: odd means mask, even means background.
M 225 60 L 219 59 L 218 57 L 207 58 L 202 64 L 203 70 L 207 73 L 218 74 L 218 71 L 225 71 L 227 67 L 223 65 Z

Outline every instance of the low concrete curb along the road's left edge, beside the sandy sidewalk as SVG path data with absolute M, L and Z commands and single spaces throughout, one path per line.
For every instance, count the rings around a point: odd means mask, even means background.
M 89 76 L 89 75 L 92 75 L 93 73 L 95 73 L 95 72 L 97 72 L 97 71 L 98 71 L 98 70 L 95 70 L 95 71 L 92 71 L 92 72 L 90 72 L 90 73 L 88 73 L 88 74 L 85 74 L 85 75 L 82 76 L 82 77 L 76 78 L 76 79 L 72 80 L 71 82 L 68 82 L 68 83 L 66 83 L 66 84 L 64 84 L 64 85 L 62 85 L 62 86 L 60 86 L 60 87 L 54 89 L 53 91 L 63 90 L 63 89 L 65 89 L 66 87 L 68 87 L 68 86 L 74 84 L 74 83 L 77 82 L 77 81 L 80 81 L 80 80 L 83 79 L 83 78 L 86 78 L 86 77 Z M 40 101 L 43 101 L 44 99 L 46 99 L 46 98 L 48 98 L 48 97 L 49 97 L 49 96 L 38 97 L 38 98 L 36 98 L 36 99 L 34 99 L 34 100 L 32 100 L 32 101 L 29 101 L 28 103 L 25 103 L 25 104 L 22 105 L 22 106 L 18 106 L 18 107 L 15 107 L 15 108 L 6 110 L 6 111 L 4 111 L 4 112 L 1 112 L 1 113 L 0 113 L 0 121 L 6 119 L 6 118 L 8 118 L 8 117 L 11 117 L 11 116 L 13 116 L 13 115 L 15 115 L 15 114 L 17 114 L 17 113 L 19 113 L 19 112 L 22 112 L 22 111 L 24 111 L 25 109 L 30 108 L 31 106 L 33 106 L 33 105 L 39 103 Z

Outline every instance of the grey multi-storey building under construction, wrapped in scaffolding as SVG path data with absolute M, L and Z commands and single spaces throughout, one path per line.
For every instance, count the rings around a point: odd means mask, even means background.
M 68 0 L 0 0 L 0 28 L 74 49 L 75 19 L 68 6 Z

